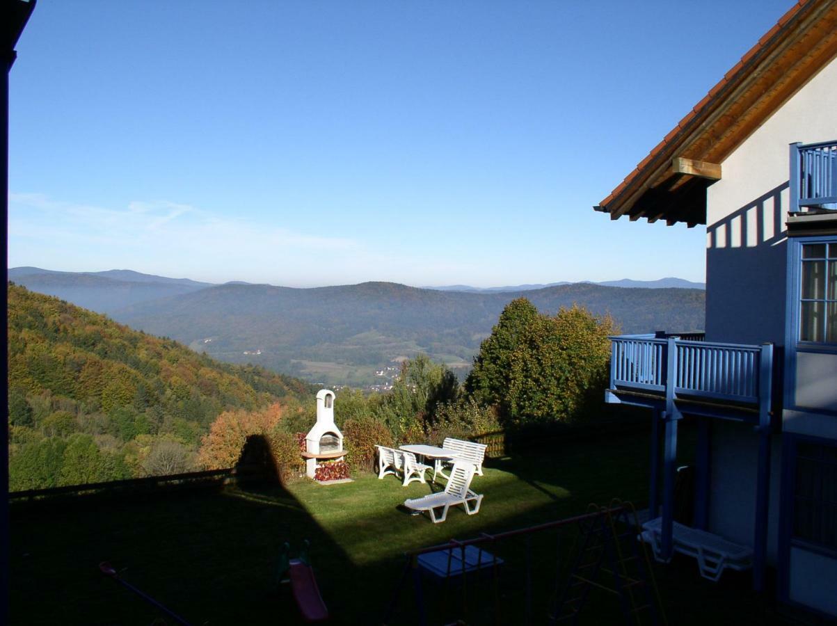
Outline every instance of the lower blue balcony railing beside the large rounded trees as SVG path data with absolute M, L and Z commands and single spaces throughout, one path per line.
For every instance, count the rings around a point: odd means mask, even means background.
M 614 391 L 662 395 L 671 386 L 675 398 L 755 406 L 769 398 L 773 369 L 770 344 L 742 346 L 652 335 L 610 339 L 610 388 Z

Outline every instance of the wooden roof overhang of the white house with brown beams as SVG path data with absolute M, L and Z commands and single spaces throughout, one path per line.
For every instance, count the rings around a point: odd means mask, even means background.
M 611 219 L 705 224 L 721 162 L 834 57 L 837 0 L 802 0 L 593 208 Z

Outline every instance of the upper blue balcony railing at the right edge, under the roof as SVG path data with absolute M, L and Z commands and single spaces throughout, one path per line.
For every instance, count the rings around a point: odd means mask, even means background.
M 790 146 L 790 212 L 837 208 L 837 140 Z

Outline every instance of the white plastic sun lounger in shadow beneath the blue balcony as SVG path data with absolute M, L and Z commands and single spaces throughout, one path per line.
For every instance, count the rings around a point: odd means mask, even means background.
M 646 521 L 642 527 L 642 540 L 650 544 L 655 559 L 663 562 L 660 556 L 662 518 Z M 701 576 L 711 581 L 717 581 L 726 567 L 739 572 L 752 567 L 752 548 L 739 546 L 711 532 L 690 528 L 675 521 L 671 536 L 675 551 L 695 557 Z

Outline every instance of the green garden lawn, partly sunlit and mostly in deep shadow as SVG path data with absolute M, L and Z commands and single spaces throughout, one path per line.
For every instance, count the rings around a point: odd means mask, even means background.
M 159 618 L 100 574 L 97 564 L 104 560 L 194 624 L 298 623 L 289 590 L 276 592 L 275 568 L 282 543 L 290 541 L 295 551 L 305 538 L 333 622 L 382 623 L 405 551 L 578 515 L 588 503 L 614 497 L 644 506 L 647 442 L 645 433 L 623 434 L 493 459 L 473 483 L 485 494 L 480 513 L 466 516 L 458 507 L 438 525 L 401 506 L 429 493 L 429 485 L 402 487 L 393 476 L 377 480 L 372 474 L 344 485 L 304 481 L 288 490 L 239 487 L 15 504 L 11 623 L 147 625 Z M 548 598 L 572 544 L 573 531 L 553 531 L 528 545 L 510 540 L 494 546 L 506 564 L 496 579 L 470 582 L 469 623 L 521 623 L 527 559 L 532 623 L 546 623 Z M 656 571 L 670 623 L 783 623 L 765 598 L 748 590 L 746 576 L 725 574 L 713 585 L 687 559 Z M 462 616 L 459 589 L 424 581 L 423 592 L 434 618 Z M 393 622 L 416 623 L 412 584 L 399 598 Z M 607 607 L 615 606 L 598 597 L 591 604 L 582 623 L 603 623 Z

